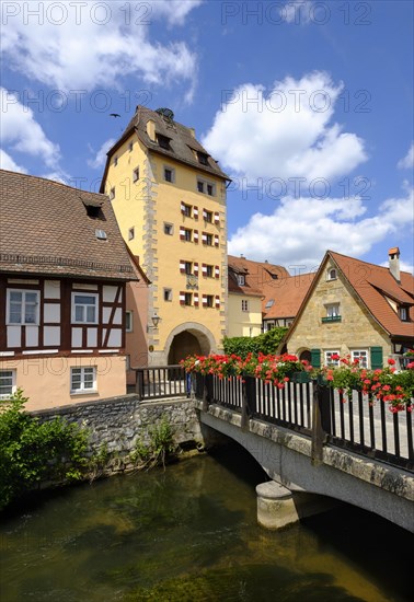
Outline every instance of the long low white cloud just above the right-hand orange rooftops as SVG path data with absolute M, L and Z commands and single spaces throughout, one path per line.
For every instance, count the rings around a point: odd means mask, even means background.
M 413 189 L 383 201 L 376 216 L 364 218 L 364 212 L 358 198 L 344 209 L 342 198 L 285 197 L 272 215 L 253 215 L 230 238 L 229 253 L 307 270 L 319 265 L 327 248 L 360 257 L 387 235 L 413 227 Z

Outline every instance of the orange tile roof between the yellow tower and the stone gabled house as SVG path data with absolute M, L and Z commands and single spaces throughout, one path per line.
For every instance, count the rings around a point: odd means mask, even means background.
M 295 317 L 314 279 L 314 273 L 289 276 L 267 282 L 264 287 L 264 320 Z M 271 306 L 269 303 L 274 301 Z

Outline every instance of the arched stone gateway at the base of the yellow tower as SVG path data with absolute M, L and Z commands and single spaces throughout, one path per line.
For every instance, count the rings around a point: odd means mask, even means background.
M 165 357 L 168 364 L 179 363 L 188 355 L 207 356 L 216 349 L 216 340 L 212 334 L 203 324 L 187 322 L 176 326 L 165 341 Z

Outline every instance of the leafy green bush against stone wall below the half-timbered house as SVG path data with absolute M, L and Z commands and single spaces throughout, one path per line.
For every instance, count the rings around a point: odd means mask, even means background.
M 88 463 L 88 431 L 61 418 L 41 422 L 26 402 L 22 390 L 0 402 L 0 510 L 41 482 L 81 478 Z

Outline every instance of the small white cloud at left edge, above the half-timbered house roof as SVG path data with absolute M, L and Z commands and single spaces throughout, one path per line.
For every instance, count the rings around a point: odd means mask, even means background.
M 23 106 L 15 94 L 0 88 L 0 140 L 11 150 L 39 157 L 47 166 L 56 167 L 60 159 L 59 146 L 51 142 L 33 111 Z

